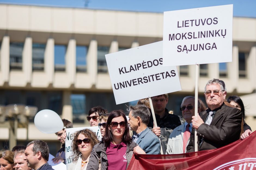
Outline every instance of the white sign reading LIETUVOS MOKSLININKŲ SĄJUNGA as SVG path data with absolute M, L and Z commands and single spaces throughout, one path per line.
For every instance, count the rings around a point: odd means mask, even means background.
M 164 12 L 163 66 L 232 61 L 233 5 Z

